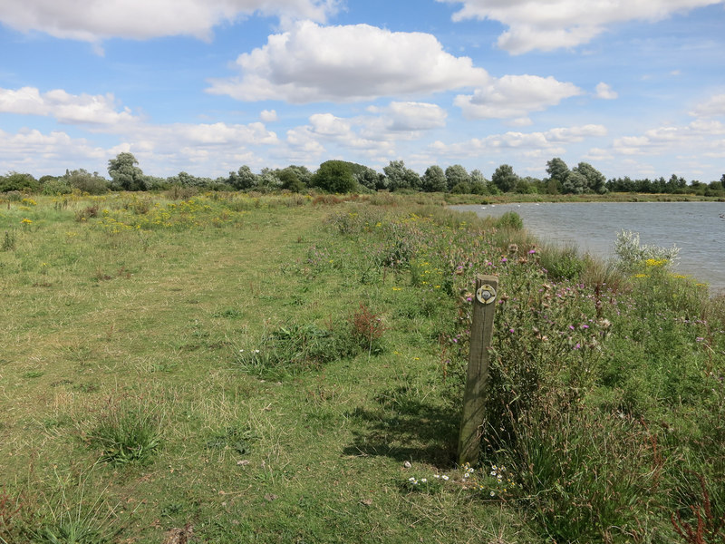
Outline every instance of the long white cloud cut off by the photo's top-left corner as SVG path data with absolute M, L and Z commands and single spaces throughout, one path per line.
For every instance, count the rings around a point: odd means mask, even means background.
M 0 2 L 0 22 L 21 31 L 97 42 L 169 35 L 208 38 L 217 24 L 256 12 L 324 21 L 336 0 L 52 0 Z

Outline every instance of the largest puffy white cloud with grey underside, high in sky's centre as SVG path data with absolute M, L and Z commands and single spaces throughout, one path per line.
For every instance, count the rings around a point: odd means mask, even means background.
M 392 54 L 394 52 L 394 54 Z M 208 92 L 243 101 L 355 102 L 482 85 L 488 73 L 468 57 L 443 51 L 431 34 L 369 24 L 299 22 L 237 58 L 241 75 L 211 82 Z

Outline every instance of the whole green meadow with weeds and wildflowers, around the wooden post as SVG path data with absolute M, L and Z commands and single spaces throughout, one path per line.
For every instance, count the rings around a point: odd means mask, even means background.
M 725 302 L 445 204 L 5 195 L 0 543 L 722 542 Z

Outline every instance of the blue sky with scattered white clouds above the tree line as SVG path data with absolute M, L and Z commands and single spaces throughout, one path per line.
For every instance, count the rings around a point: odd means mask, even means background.
M 0 0 L 0 175 L 725 174 L 725 0 Z

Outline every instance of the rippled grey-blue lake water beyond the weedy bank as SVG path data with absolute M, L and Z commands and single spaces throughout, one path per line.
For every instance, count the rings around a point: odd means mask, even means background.
M 454 206 L 479 216 L 516 211 L 542 241 L 575 244 L 600 257 L 614 256 L 622 230 L 640 233 L 640 243 L 680 249 L 676 267 L 725 289 L 725 202 L 582 202 Z

